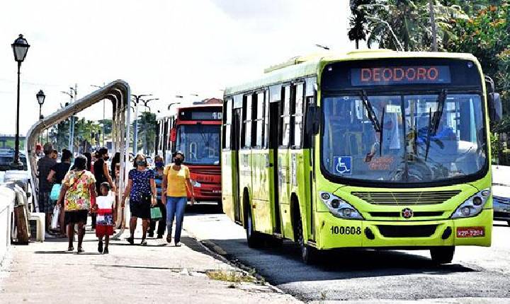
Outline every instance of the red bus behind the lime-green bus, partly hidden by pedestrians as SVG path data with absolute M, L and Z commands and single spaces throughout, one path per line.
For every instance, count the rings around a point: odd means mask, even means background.
M 222 105 L 190 105 L 159 119 L 156 151 L 171 163 L 183 151 L 190 170 L 196 201 L 221 204 L 220 130 Z M 190 194 L 188 193 L 188 198 Z

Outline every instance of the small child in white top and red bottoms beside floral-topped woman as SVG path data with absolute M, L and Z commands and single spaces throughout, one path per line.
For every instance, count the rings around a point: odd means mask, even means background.
M 115 226 L 113 196 L 109 195 L 110 185 L 108 182 L 101 183 L 100 196 L 96 197 L 96 205 L 94 209 L 97 211 L 96 219 L 96 236 L 99 238 L 98 252 L 108 254 L 108 243 L 110 235 L 113 235 L 113 227 Z M 103 237 L 105 238 L 105 247 L 103 251 Z

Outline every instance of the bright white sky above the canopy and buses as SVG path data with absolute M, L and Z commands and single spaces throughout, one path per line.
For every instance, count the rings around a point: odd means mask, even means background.
M 21 66 L 20 132 L 69 101 L 115 79 L 134 94 L 154 95 L 152 112 L 176 101 L 221 98 L 273 64 L 321 49 L 354 49 L 348 0 L 17 0 L 0 11 L 0 134 L 14 134 L 16 72 L 11 44 L 30 49 Z M 183 99 L 177 99 L 182 95 Z M 198 97 L 194 96 L 198 95 Z M 140 109 L 141 111 L 144 109 Z M 103 105 L 81 112 L 102 119 Z M 111 117 L 107 103 L 106 117 Z

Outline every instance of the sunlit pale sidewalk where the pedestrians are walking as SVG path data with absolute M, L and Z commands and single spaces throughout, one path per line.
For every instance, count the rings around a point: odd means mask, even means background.
M 140 222 L 140 221 L 139 221 Z M 141 235 L 141 227 L 137 236 Z M 147 247 L 114 240 L 109 255 L 97 252 L 87 226 L 85 252 L 66 252 L 67 239 L 13 245 L 0 268 L 1 303 L 295 303 L 261 283 L 210 279 L 240 277 L 239 269 L 210 254 L 183 231 L 181 247 L 148 239 Z M 140 239 L 135 240 L 140 242 Z M 231 272 L 234 271 L 234 272 Z M 2 273 L 4 272 L 4 273 Z M 251 278 L 251 276 L 249 276 Z

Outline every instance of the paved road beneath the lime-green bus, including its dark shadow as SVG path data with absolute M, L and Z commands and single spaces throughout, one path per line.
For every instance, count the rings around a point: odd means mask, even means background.
M 510 227 L 503 222 L 496 222 L 492 247 L 458 247 L 453 263 L 441 267 L 431 263 L 429 251 L 421 250 L 331 252 L 307 266 L 292 242 L 250 249 L 242 227 L 214 206 L 188 206 L 184 222 L 196 238 L 214 243 L 229 259 L 254 267 L 300 300 L 464 298 L 471 303 L 467 297 L 474 297 L 485 298 L 480 303 L 495 303 L 492 298 L 510 303 Z

